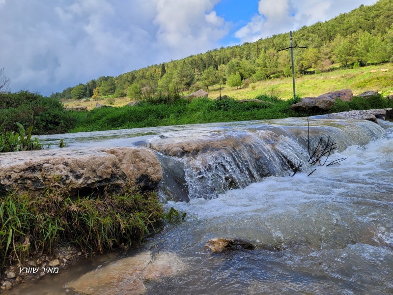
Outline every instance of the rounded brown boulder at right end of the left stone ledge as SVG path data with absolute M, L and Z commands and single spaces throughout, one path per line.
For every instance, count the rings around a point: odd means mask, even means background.
M 113 148 L 105 152 L 117 158 L 127 180 L 142 190 L 155 189 L 163 177 L 160 161 L 149 148 Z

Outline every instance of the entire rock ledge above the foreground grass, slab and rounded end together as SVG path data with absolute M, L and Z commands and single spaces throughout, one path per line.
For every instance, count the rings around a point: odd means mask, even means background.
M 129 182 L 152 190 L 162 178 L 161 164 L 148 148 L 90 151 L 24 151 L 1 154 L 0 191 L 39 195 L 45 188 L 71 195 L 104 189 L 119 191 Z

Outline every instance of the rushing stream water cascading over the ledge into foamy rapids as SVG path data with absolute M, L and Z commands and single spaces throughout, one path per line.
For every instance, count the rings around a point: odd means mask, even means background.
M 318 127 L 336 136 L 337 152 L 329 162 L 346 160 L 316 166 L 308 177 L 313 168 L 307 165 L 307 127 L 302 134 L 291 127 L 299 122 L 202 125 L 194 128 L 193 138 L 219 138 L 225 147 L 189 156 L 170 154 L 165 142 L 190 138 L 183 127 L 148 128 L 133 135 L 120 131 L 120 139 L 97 141 L 100 146 L 150 147 L 181 166 L 190 201 L 165 206 L 187 212 L 185 221 L 167 224 L 129 253 L 81 262 L 4 294 L 76 294 L 68 285 L 79 276 L 143 251 L 176 253 L 187 266 L 145 280 L 146 294 L 393 294 L 393 123 L 352 122 L 346 131 L 337 128 L 341 121 Z M 80 142 L 71 140 L 88 147 Z M 258 162 L 262 153 L 270 157 L 265 166 Z M 304 163 L 303 171 L 291 177 L 290 163 L 282 160 L 287 158 Z M 261 166 L 270 172 L 258 170 Z M 168 192 L 161 189 L 165 199 Z M 213 254 L 204 246 L 213 237 L 236 237 L 257 248 Z M 124 290 L 91 294 L 133 294 Z

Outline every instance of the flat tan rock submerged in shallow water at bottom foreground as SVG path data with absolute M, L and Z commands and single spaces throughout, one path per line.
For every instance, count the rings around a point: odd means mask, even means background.
M 133 294 L 146 292 L 144 280 L 158 279 L 184 271 L 186 265 L 174 253 L 160 253 L 155 259 L 150 252 L 124 258 L 84 274 L 68 283 L 83 294 Z

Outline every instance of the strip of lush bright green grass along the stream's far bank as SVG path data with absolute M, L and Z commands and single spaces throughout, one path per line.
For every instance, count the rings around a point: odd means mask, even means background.
M 191 101 L 180 99 L 174 103 L 94 109 L 90 112 L 74 112 L 77 127 L 71 132 L 102 131 L 140 127 L 168 126 L 194 123 L 231 122 L 256 119 L 307 117 L 321 113 L 295 112 L 289 106 L 300 100 L 282 100 L 277 95 L 259 94 L 255 97 L 267 103 L 239 103 L 235 99 L 211 100 L 198 98 Z M 389 107 L 388 99 L 376 95 L 371 99 L 354 98 L 347 103 L 337 100 L 329 113 L 367 110 Z

